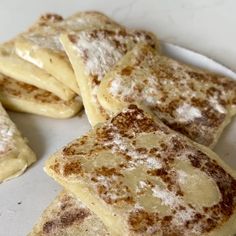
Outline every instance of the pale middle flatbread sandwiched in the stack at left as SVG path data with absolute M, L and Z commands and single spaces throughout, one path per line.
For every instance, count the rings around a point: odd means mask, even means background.
M 0 46 L 0 72 L 18 81 L 47 90 L 66 101 L 75 97 L 75 93 L 62 82 L 18 57 L 15 54 L 13 41 Z

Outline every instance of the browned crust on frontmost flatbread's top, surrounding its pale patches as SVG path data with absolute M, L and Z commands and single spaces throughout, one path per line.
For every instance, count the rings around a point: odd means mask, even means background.
M 125 148 L 124 144 L 117 144 L 117 135 L 120 137 L 119 140 L 122 141 L 133 139 L 143 132 L 167 136 L 169 141 L 167 143 L 166 141 L 159 142 L 155 148 L 150 150 L 135 148 L 133 153 Z M 89 137 L 92 134 L 94 141 L 91 144 Z M 83 145 L 89 145 L 85 152 L 80 151 Z M 100 168 L 95 168 L 92 172 L 83 168 L 80 159 L 86 157 L 92 160 L 101 150 L 112 150 L 113 154 L 121 155 L 123 157 L 122 163 L 114 168 L 108 168 L 106 163 L 103 163 Z M 124 171 L 135 167 L 137 161 L 145 163 L 147 156 L 151 155 L 155 160 L 161 161 L 162 168 L 147 171 L 148 176 L 161 178 L 169 192 L 178 199 L 183 199 L 184 193 L 176 180 L 177 172 L 173 169 L 175 159 L 181 157 L 183 151 L 187 153 L 185 155 L 186 160 L 194 168 L 201 170 L 215 182 L 221 194 L 221 200 L 213 206 L 203 207 L 201 210 L 198 210 L 192 204 L 183 204 L 180 201 L 165 216 L 161 216 L 157 211 L 149 212 L 136 208 L 136 199 L 144 192 L 137 192 L 134 198 L 132 190 L 122 181 Z M 136 161 L 133 158 L 136 158 Z M 69 172 L 67 171 L 68 163 L 72 163 Z M 54 165 L 57 165 L 57 168 Z M 72 142 L 63 149 L 61 155 L 56 158 L 54 165 L 49 168 L 53 169 L 57 175 L 68 179 L 68 181 L 71 178 L 80 179 L 81 177 L 89 179 L 91 185 L 95 186 L 96 194 L 108 205 L 113 207 L 127 206 L 129 209 L 131 207 L 132 210 L 127 212 L 128 226 L 131 231 L 137 234 L 162 232 L 163 235 L 186 235 L 189 232 L 202 235 L 213 231 L 216 227 L 220 227 L 235 213 L 235 178 L 227 173 L 216 160 L 209 158 L 205 151 L 201 151 L 187 138 L 174 133 L 162 123 L 154 121 L 135 105 L 130 105 L 128 109 L 116 115 L 110 123 L 100 125 L 91 134 Z M 100 181 L 101 178 L 106 178 L 108 184 L 104 185 Z M 119 179 L 119 181 L 116 181 L 116 179 Z M 148 187 L 154 187 L 151 181 L 145 180 L 145 182 Z M 192 212 L 191 219 L 183 219 L 180 225 L 172 221 L 177 213 L 182 212 L 184 214 L 186 211 Z M 197 232 L 195 232 L 196 229 Z

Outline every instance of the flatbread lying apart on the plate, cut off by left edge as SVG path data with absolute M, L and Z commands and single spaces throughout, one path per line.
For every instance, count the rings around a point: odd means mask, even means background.
M 21 175 L 35 161 L 35 154 L 0 103 L 0 183 Z

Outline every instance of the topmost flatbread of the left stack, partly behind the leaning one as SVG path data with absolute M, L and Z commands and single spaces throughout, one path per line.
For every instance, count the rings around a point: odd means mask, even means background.
M 59 36 L 62 32 L 90 27 L 118 27 L 118 24 L 99 12 L 81 12 L 65 20 L 56 14 L 46 14 L 28 32 L 16 39 L 16 53 L 79 93 L 73 69 Z

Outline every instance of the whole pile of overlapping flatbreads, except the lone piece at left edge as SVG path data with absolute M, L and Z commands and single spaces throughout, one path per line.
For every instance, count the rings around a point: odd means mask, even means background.
M 47 161 L 65 190 L 31 236 L 236 233 L 236 173 L 210 149 L 236 81 L 98 12 L 42 16 L 1 46 L 0 72 L 6 107 L 66 118 L 83 103 L 93 127 Z

